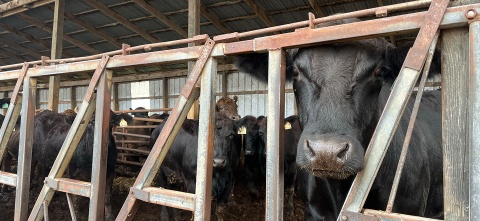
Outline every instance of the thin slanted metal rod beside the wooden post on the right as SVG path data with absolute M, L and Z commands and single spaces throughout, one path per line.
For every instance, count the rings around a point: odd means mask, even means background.
M 395 202 L 395 196 L 397 194 L 398 183 L 400 182 L 400 177 L 402 176 L 403 165 L 405 164 L 405 159 L 407 158 L 408 146 L 410 144 L 410 138 L 413 133 L 413 126 L 415 125 L 415 120 L 417 119 L 418 108 L 420 107 L 420 101 L 422 100 L 423 89 L 425 88 L 425 83 L 427 82 L 428 71 L 430 70 L 430 64 L 432 63 L 433 53 L 435 52 L 435 46 L 437 45 L 439 31 L 435 34 L 432 44 L 428 50 L 427 60 L 425 62 L 425 67 L 423 68 L 422 78 L 420 80 L 420 85 L 418 86 L 417 97 L 415 98 L 415 104 L 412 109 L 412 115 L 410 116 L 410 122 L 408 123 L 407 134 L 405 135 L 405 141 L 403 143 L 402 152 L 400 154 L 400 159 L 398 161 L 397 171 L 395 172 L 395 179 L 393 180 L 392 190 L 390 191 L 390 196 L 387 203 L 387 213 L 392 212 L 393 203 Z

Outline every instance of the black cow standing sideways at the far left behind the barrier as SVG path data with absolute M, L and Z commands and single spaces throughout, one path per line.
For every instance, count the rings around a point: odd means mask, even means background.
M 45 110 L 37 115 L 34 119 L 34 134 L 33 134 L 33 148 L 32 148 L 32 168 L 37 163 L 44 166 L 45 169 L 50 169 L 60 151 L 63 142 L 66 139 L 68 131 L 75 120 L 76 115 L 64 115 L 49 110 Z M 115 178 L 115 164 L 117 162 L 117 148 L 115 140 L 112 135 L 112 128 L 119 125 L 120 121 L 125 119 L 131 122 L 132 117 L 128 114 L 116 115 L 110 111 L 110 126 L 109 126 L 109 143 L 108 143 L 108 159 L 107 159 L 107 189 L 105 191 L 105 216 L 106 220 L 114 220 L 112 214 L 112 205 L 110 202 L 113 179 Z M 87 128 L 80 139 L 72 159 L 69 163 L 67 173 L 70 178 L 90 181 L 92 172 L 92 158 L 93 158 L 93 138 L 95 131 L 95 114 L 89 122 Z M 15 133 L 16 132 L 16 133 Z M 10 141 L 8 142 L 8 152 L 12 156 L 18 153 L 18 132 L 15 131 Z M 15 136 L 16 135 L 16 136 Z M 11 157 L 11 156 L 10 156 Z M 5 162 L 4 162 L 5 163 Z M 32 169 L 32 172 L 34 170 Z M 46 174 L 43 173 L 43 176 Z M 39 179 L 42 180 L 42 179 Z M 77 210 L 78 211 L 78 210 Z M 77 213 L 77 217 L 80 214 Z

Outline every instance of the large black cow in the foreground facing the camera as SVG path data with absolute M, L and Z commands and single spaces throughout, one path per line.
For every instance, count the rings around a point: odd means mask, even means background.
M 346 19 L 322 24 L 341 25 Z M 300 125 L 298 190 L 305 220 L 335 220 L 399 74 L 408 48 L 384 38 L 288 51 Z M 240 70 L 267 79 L 266 54 L 236 58 Z M 431 73 L 439 73 L 439 57 Z M 385 209 L 413 107 L 411 98 L 365 202 Z M 393 212 L 441 218 L 443 214 L 441 97 L 426 91 L 417 116 Z

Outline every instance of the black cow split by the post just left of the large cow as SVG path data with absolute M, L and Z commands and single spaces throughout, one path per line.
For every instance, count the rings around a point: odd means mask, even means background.
M 297 180 L 297 145 L 302 130 L 298 122 L 298 116 L 293 115 L 285 118 L 285 124 L 290 124 L 290 128 L 285 128 L 283 135 L 283 186 L 285 190 L 285 214 L 294 215 L 293 195 L 295 193 L 295 184 Z M 267 159 L 267 118 L 261 119 L 258 123 L 258 133 L 262 138 L 258 152 L 260 154 L 260 171 L 266 175 Z

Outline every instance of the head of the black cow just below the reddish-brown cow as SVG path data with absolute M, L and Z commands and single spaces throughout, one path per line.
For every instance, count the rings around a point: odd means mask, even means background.
M 235 124 L 225 113 L 215 114 L 215 140 L 213 167 L 225 168 L 231 163 L 231 153 L 235 149 Z

